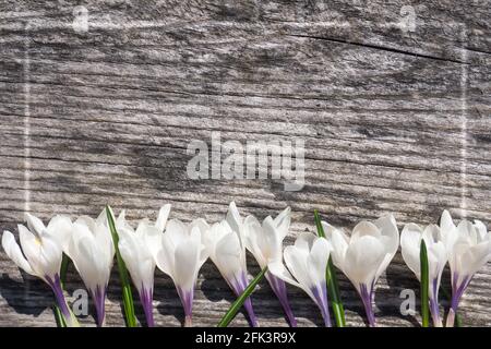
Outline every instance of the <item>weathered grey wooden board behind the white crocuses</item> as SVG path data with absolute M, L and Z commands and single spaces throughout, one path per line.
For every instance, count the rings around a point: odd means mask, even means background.
M 314 208 L 349 228 L 387 212 L 399 227 L 435 222 L 444 208 L 490 228 L 491 3 L 385 2 L 0 0 L 1 229 L 16 231 L 25 210 L 46 220 L 106 204 L 136 220 L 171 203 L 173 218 L 213 222 L 232 200 L 260 218 L 291 206 L 286 243 L 314 229 Z M 304 140 L 306 186 L 188 179 L 185 148 L 212 131 Z M 3 252 L 0 274 L 0 326 L 55 325 L 47 286 Z M 488 264 L 462 303 L 465 325 L 491 325 L 490 282 Z M 68 291 L 82 287 L 71 269 Z M 376 291 L 379 324 L 418 325 L 399 312 L 400 291 L 418 287 L 397 254 Z M 348 324 L 364 325 L 344 277 L 340 289 Z M 289 291 L 299 325 L 321 325 L 312 301 Z M 115 268 L 109 326 L 122 324 L 119 294 Z M 215 325 L 232 300 L 206 263 L 195 325 Z M 286 325 L 266 284 L 253 304 L 261 325 Z M 160 272 L 155 316 L 183 321 Z M 93 308 L 82 324 L 94 325 Z M 247 325 L 242 314 L 233 325 Z

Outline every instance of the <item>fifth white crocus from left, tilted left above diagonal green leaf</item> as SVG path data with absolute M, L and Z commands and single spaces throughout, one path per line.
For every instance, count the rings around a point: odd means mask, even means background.
M 209 258 L 233 293 L 239 297 L 249 285 L 246 246 L 239 233 L 230 228 L 227 220 L 223 220 L 212 226 L 205 233 L 204 241 L 209 251 Z M 243 306 L 249 314 L 251 326 L 258 326 L 250 297 L 244 301 Z

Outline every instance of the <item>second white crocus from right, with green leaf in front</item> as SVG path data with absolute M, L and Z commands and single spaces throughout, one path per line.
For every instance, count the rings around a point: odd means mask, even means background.
M 400 248 L 403 258 L 407 266 L 415 273 L 419 281 L 421 281 L 421 262 L 420 248 L 421 240 L 424 240 L 428 255 L 428 272 L 430 281 L 430 311 L 433 317 L 433 324 L 442 327 L 439 309 L 439 289 L 442 273 L 446 264 L 446 249 L 442 241 L 440 228 L 430 225 L 424 230 L 416 225 L 408 224 L 400 233 Z

